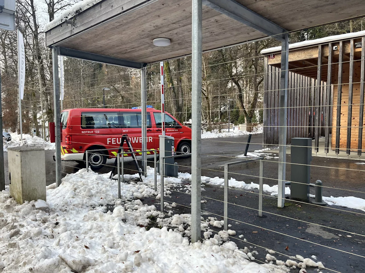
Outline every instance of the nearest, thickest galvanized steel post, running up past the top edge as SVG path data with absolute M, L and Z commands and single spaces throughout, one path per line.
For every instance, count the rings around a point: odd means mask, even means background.
M 191 153 L 191 242 L 200 238 L 201 217 L 201 17 L 202 0 L 192 0 L 192 57 L 191 57 L 191 105 L 192 105 L 192 153 Z

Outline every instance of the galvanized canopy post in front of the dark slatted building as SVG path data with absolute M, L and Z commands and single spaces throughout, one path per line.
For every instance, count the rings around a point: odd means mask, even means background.
M 285 33 L 285 41 L 281 43 L 280 104 L 279 104 L 280 107 L 279 168 L 278 168 L 278 196 L 277 196 L 278 207 L 284 207 L 284 202 L 285 202 L 285 174 L 286 174 L 286 159 L 287 159 L 288 57 L 289 57 L 289 34 Z

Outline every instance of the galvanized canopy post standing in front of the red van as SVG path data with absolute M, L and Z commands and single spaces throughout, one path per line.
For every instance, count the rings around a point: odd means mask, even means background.
M 147 150 L 147 69 L 141 69 L 141 114 L 142 114 L 142 151 Z M 147 154 L 142 153 L 143 172 L 147 174 Z

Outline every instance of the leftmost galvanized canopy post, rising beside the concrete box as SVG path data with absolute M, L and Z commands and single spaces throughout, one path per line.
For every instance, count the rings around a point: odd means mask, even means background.
M 56 160 L 56 185 L 61 185 L 61 115 L 59 111 L 59 78 L 58 78 L 58 47 L 52 47 L 53 66 L 53 103 L 55 127 L 55 160 Z

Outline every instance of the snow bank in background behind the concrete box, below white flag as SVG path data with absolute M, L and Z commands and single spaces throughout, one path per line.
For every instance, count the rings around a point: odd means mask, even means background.
M 17 133 L 11 133 L 11 141 L 3 143 L 4 152 L 8 151 L 11 147 L 29 146 L 29 147 L 40 147 L 45 150 L 55 150 L 55 143 L 45 141 L 43 138 L 33 137 L 29 134 L 23 134 L 23 140 L 20 140 L 20 135 Z

